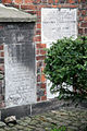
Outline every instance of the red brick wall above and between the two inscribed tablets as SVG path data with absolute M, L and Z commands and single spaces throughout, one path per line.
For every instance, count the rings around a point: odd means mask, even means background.
M 2 3 L 37 14 L 34 38 L 37 60 L 37 100 L 46 100 L 46 79 L 42 72 L 46 44 L 41 44 L 41 8 L 77 8 L 78 35 L 87 35 L 87 0 L 2 0 Z

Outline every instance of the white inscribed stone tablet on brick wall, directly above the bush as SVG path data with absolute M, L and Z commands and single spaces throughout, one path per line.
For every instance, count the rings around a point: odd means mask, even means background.
M 77 37 L 77 9 L 41 9 L 41 41 L 51 44 L 63 37 Z

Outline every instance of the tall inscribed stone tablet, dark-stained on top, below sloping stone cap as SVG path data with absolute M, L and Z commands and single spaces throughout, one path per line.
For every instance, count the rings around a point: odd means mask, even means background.
M 5 28 L 5 105 L 36 102 L 34 24 L 9 24 Z

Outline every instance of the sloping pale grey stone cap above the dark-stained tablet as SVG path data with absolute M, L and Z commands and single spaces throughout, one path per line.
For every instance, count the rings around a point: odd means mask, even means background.
M 36 22 L 36 15 L 0 3 L 0 22 Z

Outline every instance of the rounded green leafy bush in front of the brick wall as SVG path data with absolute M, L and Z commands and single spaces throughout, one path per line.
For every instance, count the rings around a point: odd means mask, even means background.
M 52 82 L 51 93 L 87 96 L 87 36 L 52 43 L 47 49 L 45 63 L 45 74 Z M 73 91 L 69 90 L 71 85 Z

